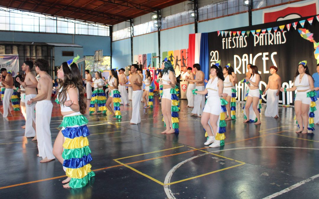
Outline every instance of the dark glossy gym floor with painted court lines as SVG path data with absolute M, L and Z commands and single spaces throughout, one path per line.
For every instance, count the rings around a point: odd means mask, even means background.
M 78 189 L 62 187 L 60 162 L 40 163 L 37 142 L 24 137 L 20 112 L 0 118 L 0 198 L 319 197 L 319 126 L 312 134 L 295 133 L 291 107 L 280 107 L 275 119 L 263 116 L 263 106 L 262 124 L 255 125 L 243 123 L 238 103 L 236 121 L 226 122 L 225 146 L 208 148 L 187 100 L 180 104 L 180 133 L 168 135 L 160 133 L 158 99 L 153 109 L 141 108 L 138 125 L 130 125 L 131 104 L 120 107 L 122 120 L 86 114 L 96 176 Z M 60 131 L 59 111 L 54 103 L 52 142 Z

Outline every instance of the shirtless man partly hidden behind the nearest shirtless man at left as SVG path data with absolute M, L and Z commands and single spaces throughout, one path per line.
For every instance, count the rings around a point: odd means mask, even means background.
M 32 68 L 33 62 L 25 61 L 22 65 L 22 70 L 26 73 L 24 82 L 21 82 L 19 77 L 16 78 L 17 82 L 19 82 L 26 89 L 25 102 L 37 95 L 37 90 L 35 88 L 38 86 L 38 81 L 35 78 L 35 75 L 33 75 L 31 72 Z M 24 136 L 27 138 L 34 137 L 32 141 L 37 140 L 37 136 L 35 134 L 35 104 L 36 103 L 32 103 L 31 105 L 28 105 L 26 103 L 26 128 Z

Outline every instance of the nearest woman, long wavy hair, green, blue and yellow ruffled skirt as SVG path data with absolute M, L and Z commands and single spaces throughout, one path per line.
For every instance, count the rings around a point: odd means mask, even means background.
M 91 170 L 91 149 L 87 136 L 90 131 L 84 117 L 86 110 L 85 90 L 82 86 L 81 73 L 73 61 L 63 62 L 57 71 L 60 89 L 56 102 L 60 103 L 63 121 L 61 131 L 56 136 L 53 154 L 63 164 L 68 176 L 62 181 L 64 188 L 81 188 L 95 176 Z

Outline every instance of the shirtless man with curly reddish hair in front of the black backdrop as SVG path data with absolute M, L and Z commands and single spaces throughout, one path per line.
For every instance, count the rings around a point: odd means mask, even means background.
M 279 89 L 281 88 L 281 78 L 277 75 L 278 68 L 270 67 L 271 76 L 268 78 L 268 84 L 263 91 L 263 95 L 267 92 L 267 107 L 265 110 L 266 117 L 278 118 Z

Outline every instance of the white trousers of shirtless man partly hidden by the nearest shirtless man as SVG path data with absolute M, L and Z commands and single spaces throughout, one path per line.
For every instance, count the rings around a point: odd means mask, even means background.
M 32 126 L 32 121 L 35 123 L 35 104 L 36 103 L 32 103 L 31 105 L 28 105 L 27 102 L 28 100 L 30 100 L 31 98 L 34 98 L 35 94 L 30 94 L 30 95 L 26 95 L 25 98 L 25 102 L 26 102 L 26 129 L 25 129 L 25 133 L 24 136 L 25 137 L 34 137 L 35 136 L 35 130 L 33 129 Z

